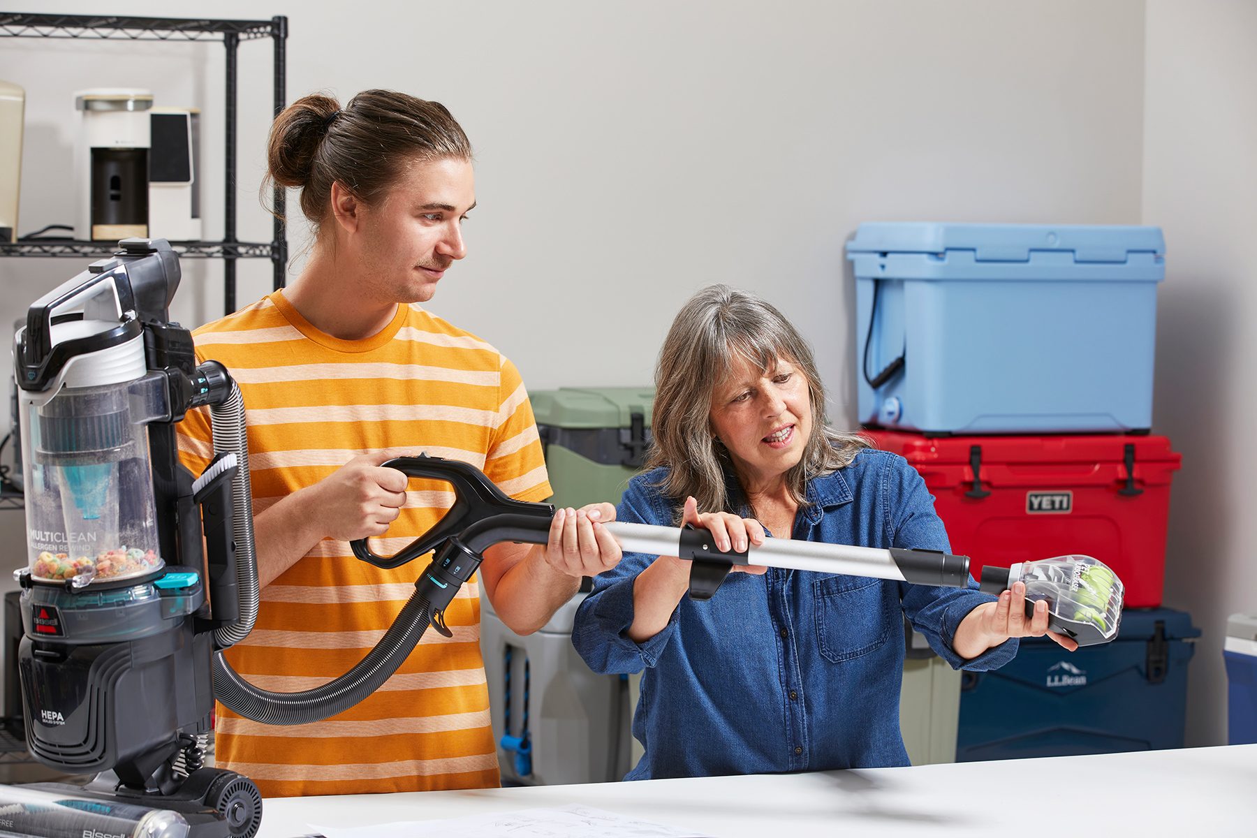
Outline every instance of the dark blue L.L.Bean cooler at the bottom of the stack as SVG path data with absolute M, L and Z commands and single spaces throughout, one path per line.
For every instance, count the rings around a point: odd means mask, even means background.
M 1183 612 L 1129 608 L 1102 646 L 1023 637 L 1003 667 L 964 673 L 957 761 L 1182 748 L 1199 636 Z

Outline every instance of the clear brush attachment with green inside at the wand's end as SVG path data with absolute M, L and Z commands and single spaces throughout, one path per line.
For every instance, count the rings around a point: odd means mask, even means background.
M 1117 636 L 1125 587 L 1099 559 L 1058 555 L 1011 568 L 982 568 L 980 587 L 987 593 L 1001 593 L 1016 582 L 1026 584 L 1026 613 L 1033 602 L 1046 601 L 1048 628 L 1072 637 L 1079 646 L 1107 643 Z

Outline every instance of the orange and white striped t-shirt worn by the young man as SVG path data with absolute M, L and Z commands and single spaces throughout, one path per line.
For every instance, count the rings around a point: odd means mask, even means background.
M 549 496 L 532 406 L 515 367 L 493 347 L 401 305 L 380 334 L 341 340 L 310 325 L 275 291 L 195 332 L 199 361 L 231 372 L 244 396 L 254 513 L 387 450 L 424 451 L 480 467 L 519 500 Z M 184 462 L 212 456 L 204 411 L 178 425 Z M 392 555 L 454 504 L 447 484 L 411 480 L 385 538 Z M 393 570 L 323 539 L 261 590 L 253 632 L 228 651 L 266 690 L 308 690 L 362 660 L 414 592 L 427 557 Z M 375 695 L 337 716 L 272 726 L 217 707 L 216 764 L 266 797 L 484 788 L 499 784 L 480 657 L 479 574 L 445 613 L 454 637 L 429 631 Z

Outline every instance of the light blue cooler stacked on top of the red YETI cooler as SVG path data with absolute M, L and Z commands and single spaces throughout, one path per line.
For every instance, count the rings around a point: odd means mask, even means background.
M 1151 427 L 1159 227 L 861 224 L 860 422 L 935 433 Z

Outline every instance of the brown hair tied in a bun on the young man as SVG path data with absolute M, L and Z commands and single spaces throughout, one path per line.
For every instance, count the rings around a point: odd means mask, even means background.
M 293 102 L 270 126 L 266 181 L 302 191 L 302 212 L 316 227 L 332 183 L 366 204 L 381 200 L 412 162 L 471 160 L 471 143 L 440 102 L 396 90 L 363 90 L 343 108 L 329 95 Z

